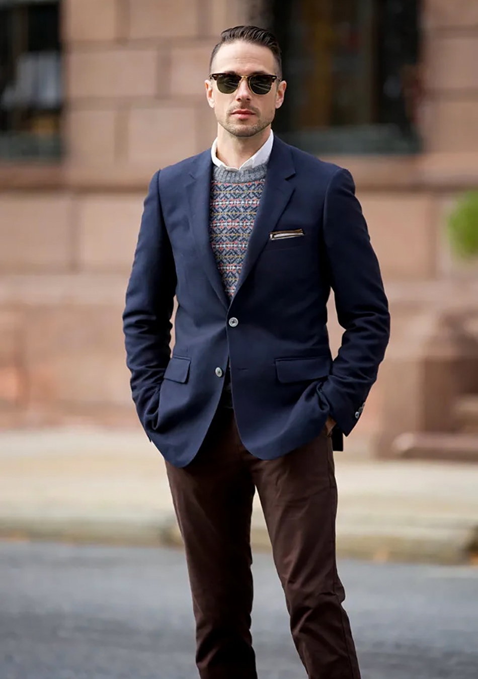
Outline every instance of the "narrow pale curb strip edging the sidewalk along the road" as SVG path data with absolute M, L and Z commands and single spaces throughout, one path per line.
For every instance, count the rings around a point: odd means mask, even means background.
M 420 534 L 423 528 L 427 528 L 426 538 Z M 0 517 L 0 539 L 124 547 L 183 547 L 179 527 L 172 514 L 149 520 Z M 271 545 L 265 526 L 252 526 L 251 545 L 255 551 L 270 551 Z M 337 530 L 337 557 L 375 562 L 478 565 L 478 526 L 422 526 L 417 531 L 410 526 L 390 528 L 380 525 L 348 525 Z

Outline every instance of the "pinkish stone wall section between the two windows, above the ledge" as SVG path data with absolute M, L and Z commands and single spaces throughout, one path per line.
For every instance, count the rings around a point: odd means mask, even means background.
M 153 172 L 208 147 L 204 79 L 219 34 L 240 21 L 235 5 L 66 0 L 70 161 Z

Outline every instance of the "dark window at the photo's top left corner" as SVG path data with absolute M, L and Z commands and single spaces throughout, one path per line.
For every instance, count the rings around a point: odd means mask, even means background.
M 0 0 L 0 159 L 58 158 L 58 2 Z

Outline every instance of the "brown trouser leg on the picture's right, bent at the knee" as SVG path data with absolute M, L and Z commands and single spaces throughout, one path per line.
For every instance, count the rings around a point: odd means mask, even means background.
M 295 646 L 310 679 L 360 679 L 335 561 L 337 485 L 331 439 L 276 460 L 250 458 L 284 588 Z

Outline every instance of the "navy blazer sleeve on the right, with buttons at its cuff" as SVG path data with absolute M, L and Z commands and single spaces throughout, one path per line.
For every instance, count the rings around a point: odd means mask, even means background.
M 323 243 L 342 344 L 318 387 L 345 435 L 358 422 L 390 337 L 390 314 L 378 259 L 348 170 L 331 178 L 324 203 Z

